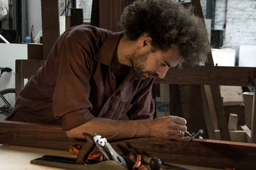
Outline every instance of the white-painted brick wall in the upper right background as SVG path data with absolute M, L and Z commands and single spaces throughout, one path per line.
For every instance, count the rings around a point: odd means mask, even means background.
M 205 15 L 206 0 L 201 0 Z M 216 0 L 214 29 L 223 30 L 225 22 L 225 0 Z M 239 55 L 239 45 L 256 44 L 256 1 L 228 0 L 227 24 L 223 45 L 236 49 Z

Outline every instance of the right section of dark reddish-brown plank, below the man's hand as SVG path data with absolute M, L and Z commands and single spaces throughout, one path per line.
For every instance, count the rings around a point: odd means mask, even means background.
M 184 142 L 138 138 L 118 141 L 111 145 L 123 154 L 142 153 L 147 154 L 148 157 L 159 157 L 163 162 L 223 169 L 225 167 L 255 169 L 256 167 L 256 145 L 248 143 L 195 139 L 183 148 Z

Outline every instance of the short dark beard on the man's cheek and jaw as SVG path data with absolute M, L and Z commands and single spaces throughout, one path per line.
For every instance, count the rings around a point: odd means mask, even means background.
M 136 78 L 145 79 L 147 76 L 145 74 L 151 76 L 157 76 L 157 73 L 153 73 L 151 71 L 144 71 L 145 70 L 145 61 L 148 59 L 148 55 L 151 53 L 151 50 L 148 50 L 145 53 L 132 53 L 131 55 L 127 55 L 126 58 L 131 62 L 132 68 L 134 69 L 134 73 Z

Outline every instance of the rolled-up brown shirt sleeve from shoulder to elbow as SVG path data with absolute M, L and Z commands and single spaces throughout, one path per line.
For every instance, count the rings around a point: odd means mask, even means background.
M 56 87 L 52 98 L 54 118 L 61 118 L 64 130 L 84 124 L 94 116 L 90 112 L 90 77 L 93 38 L 77 33 L 60 41 L 56 69 Z

